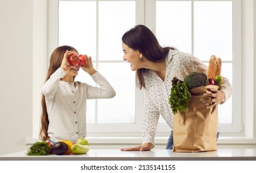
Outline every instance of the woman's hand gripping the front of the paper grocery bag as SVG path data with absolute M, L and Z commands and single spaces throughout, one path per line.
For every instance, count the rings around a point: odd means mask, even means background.
M 211 93 L 205 93 L 204 96 L 207 96 L 206 99 L 202 99 L 202 103 L 207 104 L 207 108 L 213 108 L 214 106 L 222 103 L 225 99 L 225 94 L 223 91 L 216 90 L 214 88 L 209 88 Z

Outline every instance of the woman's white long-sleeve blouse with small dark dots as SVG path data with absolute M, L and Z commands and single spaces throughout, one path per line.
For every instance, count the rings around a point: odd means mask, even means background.
M 174 127 L 174 114 L 169 104 L 172 88 L 172 78 L 183 80 L 190 72 L 197 71 L 206 74 L 208 66 L 191 54 L 178 50 L 170 50 L 166 57 L 166 77 L 164 81 L 152 70 L 143 74 L 145 80 L 144 111 L 143 111 L 143 143 L 154 144 L 157 124 L 161 115 L 171 129 Z M 232 86 L 227 78 L 219 87 L 225 93 L 223 103 L 232 95 Z

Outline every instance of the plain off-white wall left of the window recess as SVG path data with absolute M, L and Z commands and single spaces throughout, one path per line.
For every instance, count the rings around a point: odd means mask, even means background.
M 0 155 L 32 136 L 33 1 L 0 1 Z

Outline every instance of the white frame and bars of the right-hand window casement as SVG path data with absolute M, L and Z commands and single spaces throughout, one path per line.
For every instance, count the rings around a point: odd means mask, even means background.
M 145 23 L 151 28 L 153 32 L 156 31 L 156 1 L 148 0 L 146 1 L 147 7 L 145 7 Z M 159 0 L 159 1 L 177 1 L 177 0 Z M 193 54 L 193 2 L 194 0 L 186 0 L 192 2 L 192 53 Z M 196 0 L 205 1 L 205 0 Z M 206 1 L 216 1 L 216 0 L 206 0 Z M 217 0 L 221 1 L 221 0 Z M 232 95 L 232 124 L 220 124 L 221 131 L 223 133 L 236 133 L 236 135 L 241 135 L 243 132 L 244 124 L 242 123 L 242 1 L 241 0 L 226 0 L 232 1 L 233 3 L 233 91 L 236 94 Z M 202 61 L 208 63 L 206 61 Z M 225 62 L 225 61 L 223 61 Z M 236 69 L 236 70 L 234 70 Z M 235 84 L 235 85 L 234 85 Z

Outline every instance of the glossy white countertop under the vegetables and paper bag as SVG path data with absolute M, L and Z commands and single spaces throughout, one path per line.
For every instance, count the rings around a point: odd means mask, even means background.
M 1 160 L 256 160 L 256 149 L 218 149 L 198 153 L 174 153 L 172 150 L 120 151 L 89 150 L 86 154 L 27 156 L 26 151 L 0 156 Z

